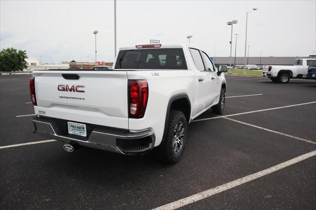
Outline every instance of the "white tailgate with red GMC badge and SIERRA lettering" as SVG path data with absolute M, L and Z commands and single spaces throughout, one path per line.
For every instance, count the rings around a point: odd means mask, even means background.
M 126 71 L 41 70 L 33 75 L 36 114 L 128 129 Z

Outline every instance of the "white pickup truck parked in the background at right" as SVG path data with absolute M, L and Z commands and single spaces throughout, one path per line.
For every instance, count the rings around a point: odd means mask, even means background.
M 294 66 L 263 66 L 262 75 L 273 82 L 287 83 L 290 78 L 307 78 L 309 66 L 316 66 L 316 59 L 296 59 Z

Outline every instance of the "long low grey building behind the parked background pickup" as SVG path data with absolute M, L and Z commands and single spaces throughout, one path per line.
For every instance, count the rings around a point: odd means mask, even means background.
M 310 55 L 307 57 L 246 57 L 246 63 L 248 65 L 254 66 L 262 66 L 262 65 L 293 65 L 295 59 L 303 59 L 303 58 L 315 58 L 316 55 Z M 227 65 L 230 64 L 230 57 L 213 57 L 213 62 L 215 65 Z M 247 62 L 248 60 L 248 62 Z M 245 58 L 244 57 L 236 57 L 236 65 L 244 65 Z M 232 56 L 232 66 L 235 63 L 235 57 Z

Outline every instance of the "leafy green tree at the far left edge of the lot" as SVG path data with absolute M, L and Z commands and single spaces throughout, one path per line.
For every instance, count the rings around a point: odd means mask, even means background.
M 0 71 L 22 71 L 27 68 L 25 50 L 6 48 L 0 51 Z

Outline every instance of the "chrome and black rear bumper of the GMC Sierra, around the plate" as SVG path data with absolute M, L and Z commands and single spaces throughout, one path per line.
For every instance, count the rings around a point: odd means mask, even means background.
M 67 122 L 67 120 L 35 116 L 32 118 L 33 133 L 54 140 L 121 154 L 146 152 L 153 149 L 155 145 L 155 134 L 150 129 L 134 133 L 123 129 L 86 124 L 87 137 L 81 137 L 68 134 Z

